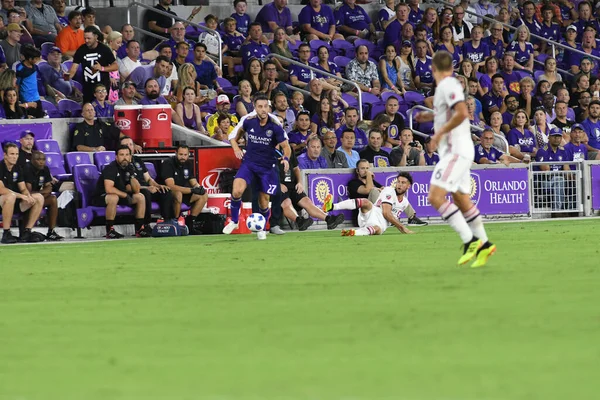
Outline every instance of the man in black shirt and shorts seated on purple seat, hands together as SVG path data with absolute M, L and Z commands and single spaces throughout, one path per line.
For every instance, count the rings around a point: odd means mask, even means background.
M 92 198 L 96 207 L 106 207 L 106 238 L 120 239 L 122 234 L 114 228 L 117 216 L 117 205 L 135 208 L 135 236 L 150 237 L 152 229 L 144 226 L 146 199 L 140 193 L 140 183 L 135 178 L 135 168 L 129 162 L 131 151 L 127 146 L 120 146 L 115 152 L 116 160 L 102 170 Z

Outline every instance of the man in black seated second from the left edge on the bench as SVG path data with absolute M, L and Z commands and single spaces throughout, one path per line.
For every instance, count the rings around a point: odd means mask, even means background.
M 58 219 L 58 203 L 56 196 L 52 194 L 54 178 L 46 165 L 46 156 L 41 151 L 34 150 L 31 162 L 25 165 L 23 170 L 25 186 L 29 193 L 39 193 L 44 197 L 44 207 L 48 208 L 48 233 L 46 240 L 58 241 L 63 237 L 54 231 Z

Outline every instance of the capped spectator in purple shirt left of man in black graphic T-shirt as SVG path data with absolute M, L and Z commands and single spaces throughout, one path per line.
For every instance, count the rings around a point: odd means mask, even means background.
M 56 102 L 65 97 L 81 101 L 83 98 L 81 91 L 73 85 L 73 81 L 65 81 L 64 75 L 68 71 L 63 67 L 61 58 L 62 52 L 55 46 L 48 53 L 48 62 L 38 65 L 42 81 L 46 86 L 46 94 Z

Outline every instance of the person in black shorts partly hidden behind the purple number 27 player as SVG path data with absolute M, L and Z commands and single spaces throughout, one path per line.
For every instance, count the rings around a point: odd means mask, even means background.
M 286 218 L 296 222 L 299 231 L 305 231 L 313 224 L 312 218 L 304 218 L 298 216 L 296 208 L 301 207 L 308 212 L 313 218 L 316 218 L 327 223 L 327 229 L 335 229 L 339 224 L 344 222 L 344 215 L 330 215 L 323 212 L 319 207 L 315 206 L 312 200 L 306 196 L 304 186 L 302 185 L 302 177 L 300 168 L 298 168 L 298 160 L 292 152 L 290 156 L 290 168 L 287 172 L 284 171 L 283 165 L 279 164 L 279 180 L 281 186 L 281 208 L 283 215 Z M 274 228 L 274 227 L 273 227 Z M 271 230 L 273 230 L 271 228 Z

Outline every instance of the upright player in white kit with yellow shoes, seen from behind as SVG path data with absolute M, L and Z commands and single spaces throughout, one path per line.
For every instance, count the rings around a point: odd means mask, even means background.
M 440 155 L 440 162 L 431 176 L 429 202 L 464 243 L 458 264 L 466 264 L 476 257 L 471 266 L 481 267 L 494 254 L 496 246 L 488 241 L 479 210 L 469 197 L 474 147 L 465 96 L 460 82 L 453 77 L 450 53 L 435 53 L 432 72 L 437 84 L 434 111 L 416 116 L 418 122 L 433 120 L 431 143 L 438 146 Z M 452 193 L 454 203 L 446 199 L 448 192 Z

